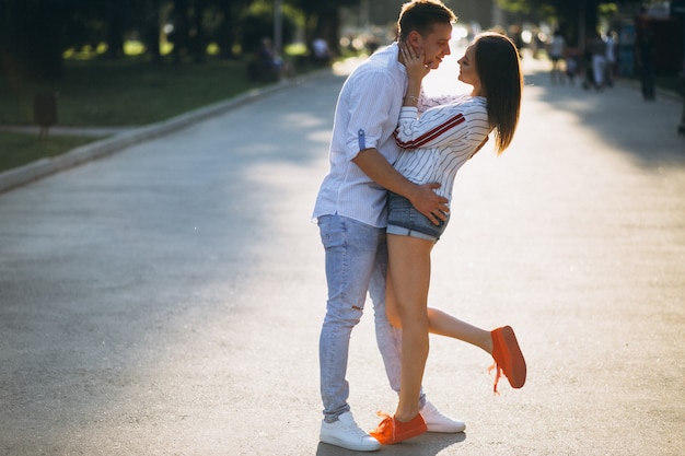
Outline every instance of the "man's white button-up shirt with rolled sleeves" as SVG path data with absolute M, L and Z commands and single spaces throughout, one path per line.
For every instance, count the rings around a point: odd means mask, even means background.
M 339 214 L 385 227 L 386 190 L 352 163 L 360 150 L 375 148 L 394 164 L 399 154 L 393 132 L 407 89 L 407 72 L 397 60 L 396 43 L 362 62 L 338 96 L 330 169 L 321 185 L 313 218 Z M 363 132 L 363 135 L 360 135 Z

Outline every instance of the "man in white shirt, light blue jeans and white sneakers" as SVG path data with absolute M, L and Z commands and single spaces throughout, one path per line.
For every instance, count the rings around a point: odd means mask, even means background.
M 454 13 L 439 0 L 403 5 L 399 40 L 426 56 L 436 69 L 450 55 Z M 380 443 L 362 431 L 347 402 L 349 339 L 361 319 L 369 292 L 374 307 L 376 341 L 391 387 L 399 390 L 400 332 L 385 316 L 386 190 L 408 198 L 433 223 L 445 219 L 446 199 L 438 184 L 418 186 L 392 163 L 399 152 L 397 127 L 407 74 L 397 44 L 374 54 L 345 82 L 336 106 L 330 169 L 322 183 L 314 219 L 326 250 L 328 301 L 320 339 L 321 393 L 324 420 L 320 440 L 353 451 L 375 451 Z M 421 394 L 420 413 L 429 432 L 462 432 L 461 421 L 440 413 Z

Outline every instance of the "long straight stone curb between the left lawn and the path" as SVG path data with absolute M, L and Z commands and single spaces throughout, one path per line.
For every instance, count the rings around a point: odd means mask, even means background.
M 314 72 L 316 74 L 316 72 Z M 307 75 L 309 77 L 309 75 Z M 218 102 L 198 109 L 190 110 L 167 120 L 135 128 L 109 138 L 76 148 L 65 154 L 40 159 L 13 169 L 0 173 L 0 194 L 33 183 L 58 172 L 79 166 L 83 163 L 102 159 L 131 145 L 159 138 L 193 124 L 217 116 L 229 109 L 255 102 L 278 91 L 291 87 L 302 79 L 282 81 L 266 87 L 254 89 L 224 102 Z

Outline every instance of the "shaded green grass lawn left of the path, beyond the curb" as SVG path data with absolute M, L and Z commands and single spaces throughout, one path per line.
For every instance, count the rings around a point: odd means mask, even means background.
M 0 125 L 34 125 L 33 97 L 58 93 L 58 126 L 142 126 L 231 98 L 266 82 L 247 78 L 244 60 L 152 65 L 140 58 L 66 60 L 61 81 L 0 77 Z M 54 156 L 93 138 L 0 132 L 0 172 Z

